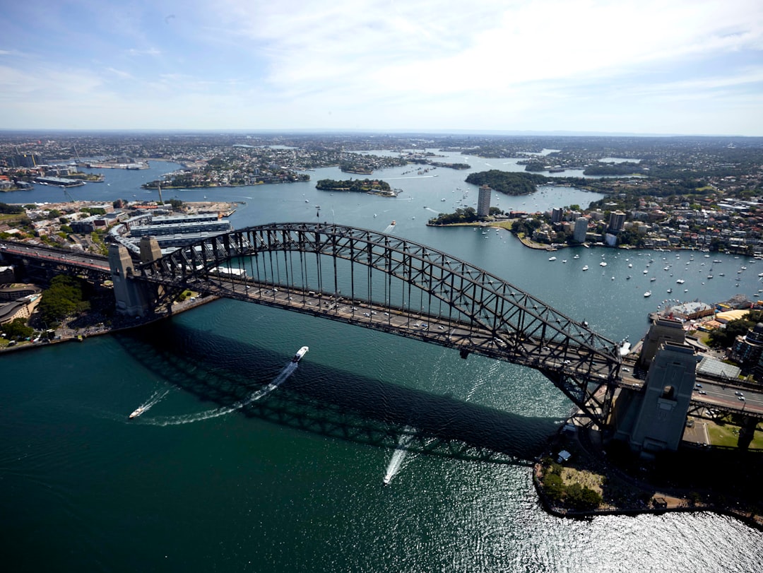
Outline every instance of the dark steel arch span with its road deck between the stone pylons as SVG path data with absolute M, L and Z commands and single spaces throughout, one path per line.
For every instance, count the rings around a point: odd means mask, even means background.
M 138 282 L 406 336 L 529 366 L 604 427 L 620 381 L 617 343 L 491 273 L 373 230 L 272 223 L 200 240 L 136 266 Z

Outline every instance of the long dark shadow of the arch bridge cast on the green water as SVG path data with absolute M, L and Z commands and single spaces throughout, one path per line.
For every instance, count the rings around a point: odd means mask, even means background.
M 260 400 L 291 356 L 163 321 L 114 334 L 158 378 L 214 407 L 298 430 L 435 456 L 528 465 L 559 427 L 551 418 L 523 417 L 448 395 L 359 376 L 307 359 Z M 416 429 L 411 435 L 410 428 Z

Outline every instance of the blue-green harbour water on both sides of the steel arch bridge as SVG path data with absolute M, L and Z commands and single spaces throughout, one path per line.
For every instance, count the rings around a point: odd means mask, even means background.
M 311 172 L 307 183 L 164 195 L 246 201 L 231 217 L 237 228 L 333 221 L 385 230 L 394 220 L 391 233 L 494 272 L 612 340 L 642 336 L 665 299 L 712 303 L 763 287 L 763 262 L 746 258 L 577 248 L 551 262 L 504 231 L 426 227 L 477 191 L 468 172 L 407 170 L 374 174 L 402 189 L 397 198 L 314 188 L 348 179 L 338 169 Z M 140 183 L 156 174 L 105 176 L 76 198 L 153 196 Z M 37 187 L 2 199 L 59 194 Z M 594 198 L 549 186 L 493 204 L 535 211 Z M 304 345 L 307 356 L 285 370 Z M 127 419 L 152 397 L 150 410 Z M 521 463 L 393 459 L 353 431 L 324 435 L 307 413 L 336 423 L 336 412 L 353 410 L 369 424 L 404 419 L 413 429 L 436 416 L 444 429 L 501 430 L 529 461 L 571 404 L 532 370 L 255 304 L 215 301 L 142 330 L 0 356 L 0 404 L 0 536 L 13 571 L 758 571 L 763 559 L 763 533 L 729 517 L 562 520 L 539 507 Z

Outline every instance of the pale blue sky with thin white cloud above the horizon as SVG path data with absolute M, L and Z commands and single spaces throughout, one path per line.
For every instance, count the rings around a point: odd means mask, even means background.
M 3 4 L 0 129 L 763 136 L 763 0 Z

